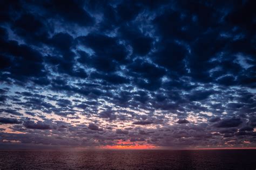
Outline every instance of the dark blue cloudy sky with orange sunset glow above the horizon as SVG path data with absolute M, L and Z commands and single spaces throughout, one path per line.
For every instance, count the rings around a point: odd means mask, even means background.
M 256 147 L 256 1 L 1 1 L 0 149 Z

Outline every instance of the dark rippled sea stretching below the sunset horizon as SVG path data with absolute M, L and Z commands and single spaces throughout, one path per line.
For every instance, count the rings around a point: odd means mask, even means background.
M 0 151 L 0 169 L 256 169 L 256 150 Z

